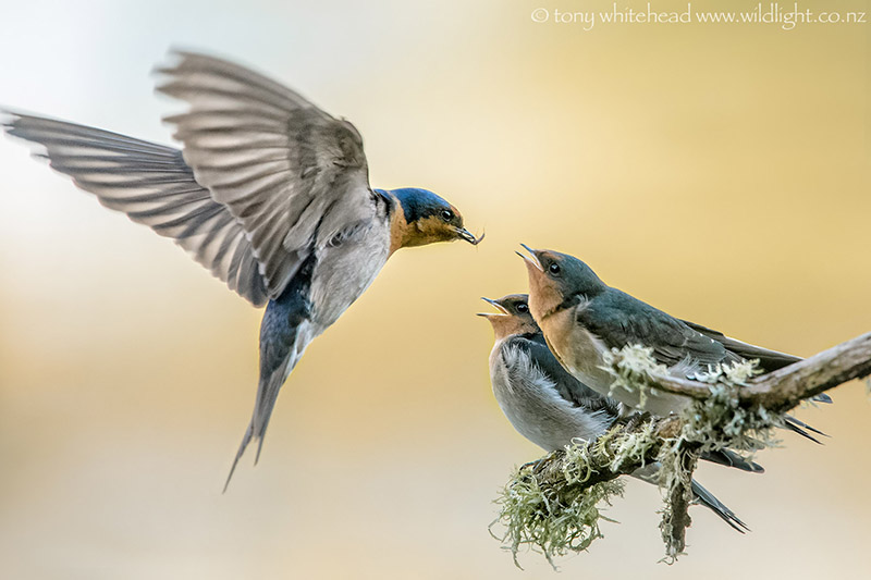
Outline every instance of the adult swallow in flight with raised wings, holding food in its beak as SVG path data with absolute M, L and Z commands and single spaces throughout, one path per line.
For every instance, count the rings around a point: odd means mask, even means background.
M 259 457 L 279 390 L 308 344 L 394 251 L 483 236 L 432 192 L 372 189 L 354 125 L 283 85 L 191 52 L 158 72 L 158 90 L 189 104 L 165 120 L 182 149 L 9 111 L 3 124 L 42 146 L 38 157 L 103 206 L 172 238 L 243 298 L 266 305 L 254 416 L 229 484 L 252 441 Z

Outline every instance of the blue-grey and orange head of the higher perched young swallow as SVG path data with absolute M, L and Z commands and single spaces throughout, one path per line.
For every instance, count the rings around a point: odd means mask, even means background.
M 581 300 L 591 300 L 608 289 L 592 269 L 574 256 L 548 249 L 532 249 L 520 244 L 531 257 L 526 261 L 529 273 L 529 309 L 536 320 Z

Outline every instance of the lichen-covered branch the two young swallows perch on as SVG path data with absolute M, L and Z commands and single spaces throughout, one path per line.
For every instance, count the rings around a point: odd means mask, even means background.
M 576 441 L 522 467 L 496 499 L 493 527 L 517 560 L 523 546 L 554 556 L 587 550 L 602 533 L 601 513 L 622 495 L 616 480 L 659 464 L 665 560 L 684 553 L 688 508 L 695 501 L 692 472 L 698 458 L 716 449 L 755 453 L 776 443 L 774 428 L 784 412 L 842 383 L 871 374 L 871 333 L 780 371 L 756 377 L 752 363 L 717 367 L 695 381 L 661 372 L 643 349 L 613 353 L 616 382 L 659 388 L 694 399 L 680 414 L 621 421 L 596 441 Z M 736 521 L 737 518 L 736 518 Z M 492 527 L 491 527 L 492 528 Z

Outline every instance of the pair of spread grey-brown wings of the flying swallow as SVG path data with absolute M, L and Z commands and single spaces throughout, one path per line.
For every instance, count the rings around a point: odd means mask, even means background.
M 179 53 L 160 90 L 191 103 L 172 147 L 5 112 L 5 131 L 105 206 L 172 237 L 255 306 L 306 257 L 371 218 L 354 126 L 236 64 Z

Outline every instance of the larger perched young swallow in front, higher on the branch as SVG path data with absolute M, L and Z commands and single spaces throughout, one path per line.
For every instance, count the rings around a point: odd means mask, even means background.
M 666 314 L 609 286 L 573 256 L 524 248 L 531 255 L 520 254 L 529 274 L 529 310 L 551 351 L 575 378 L 629 408 L 666 416 L 682 410 L 691 399 L 658 391 L 647 393 L 641 405 L 641 394 L 636 390 L 617 387 L 612 392 L 613 377 L 604 370 L 602 358 L 612 348 L 634 344 L 649 347 L 657 362 L 675 375 L 690 379 L 716 363 L 758 359 L 760 368 L 770 372 L 801 360 Z M 826 395 L 818 400 L 829 403 L 831 398 Z M 787 418 L 787 427 L 810 439 L 801 428 L 818 432 L 794 418 Z

